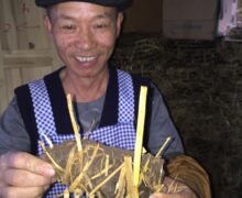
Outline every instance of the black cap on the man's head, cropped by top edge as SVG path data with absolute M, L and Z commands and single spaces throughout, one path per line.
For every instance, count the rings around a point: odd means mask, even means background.
M 130 6 L 131 0 L 35 0 L 36 6 L 47 8 L 53 4 L 67 1 L 84 1 L 96 3 L 105 7 L 116 7 L 119 11 L 127 9 Z

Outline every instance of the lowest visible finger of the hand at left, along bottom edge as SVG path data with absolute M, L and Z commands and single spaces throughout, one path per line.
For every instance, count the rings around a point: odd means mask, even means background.
M 46 187 L 31 187 L 31 188 L 16 188 L 16 187 L 0 187 L 1 198 L 33 198 L 42 197 L 46 191 Z

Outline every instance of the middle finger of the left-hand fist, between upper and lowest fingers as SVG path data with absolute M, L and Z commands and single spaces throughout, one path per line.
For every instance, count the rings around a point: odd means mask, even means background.
M 23 169 L 7 169 L 2 173 L 6 185 L 18 187 L 37 187 L 52 184 L 52 177 L 45 177 Z

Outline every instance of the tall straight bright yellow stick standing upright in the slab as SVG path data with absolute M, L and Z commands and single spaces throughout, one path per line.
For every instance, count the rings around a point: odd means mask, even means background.
M 147 87 L 141 86 L 140 100 L 139 100 L 138 128 L 136 128 L 136 142 L 135 142 L 134 164 L 133 164 L 133 184 L 134 187 L 136 188 L 139 187 L 139 183 L 140 183 L 141 154 L 143 147 L 144 119 L 145 119 L 145 109 L 146 109 L 146 95 L 147 95 Z

